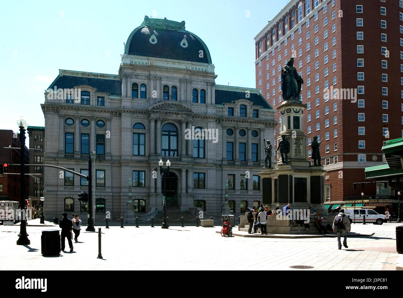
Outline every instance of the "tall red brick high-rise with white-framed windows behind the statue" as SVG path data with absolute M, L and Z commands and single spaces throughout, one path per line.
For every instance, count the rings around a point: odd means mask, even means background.
M 402 0 L 292 0 L 255 37 L 256 87 L 274 109 L 283 103 L 281 68 L 295 57 L 309 159 L 314 136 L 323 140 L 325 201 L 394 194 L 353 183 L 384 163 L 388 138 L 403 136 L 402 33 Z

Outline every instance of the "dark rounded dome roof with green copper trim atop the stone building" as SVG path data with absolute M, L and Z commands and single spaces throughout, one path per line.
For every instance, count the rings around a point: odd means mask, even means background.
M 212 64 L 210 51 L 181 23 L 144 17 L 127 39 L 125 54 Z

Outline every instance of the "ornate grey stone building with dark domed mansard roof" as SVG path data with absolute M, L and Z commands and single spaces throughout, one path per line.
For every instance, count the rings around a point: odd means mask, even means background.
M 274 110 L 260 89 L 216 85 L 216 77 L 208 47 L 184 21 L 145 16 L 118 74 L 59 70 L 41 105 L 43 162 L 88 175 L 91 155 L 96 219 L 161 213 L 164 191 L 168 209 L 221 214 L 227 181 L 231 214 L 258 206 Z M 171 162 L 166 189 L 161 159 L 164 168 Z M 77 193 L 88 190 L 86 179 L 44 173 L 46 219 L 85 216 L 88 203 Z

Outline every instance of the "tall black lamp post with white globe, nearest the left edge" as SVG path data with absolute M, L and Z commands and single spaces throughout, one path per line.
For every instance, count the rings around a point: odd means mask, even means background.
M 21 119 L 17 120 L 17 125 L 20 128 L 20 208 L 21 215 L 23 215 L 23 210 L 25 209 L 25 130 L 27 130 L 27 121 L 21 116 Z M 28 239 L 27 234 L 27 223 L 25 221 L 26 214 L 21 216 L 21 225 L 20 225 L 20 233 L 18 234 L 19 238 L 17 240 L 17 245 L 29 245 L 31 241 Z

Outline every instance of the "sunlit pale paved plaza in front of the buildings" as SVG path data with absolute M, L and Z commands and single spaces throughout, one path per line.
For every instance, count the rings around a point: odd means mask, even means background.
M 251 264 L 254 270 L 297 270 L 291 265 L 314 266 L 307 270 L 396 270 L 395 227 L 401 225 L 352 224 L 353 232 L 374 234 L 348 238 L 349 248 L 342 250 L 337 249 L 337 238 L 221 237 L 219 226 L 101 226 L 104 259 L 97 259 L 98 232 L 85 232 L 83 226 L 73 253 L 43 257 L 41 231 L 60 228 L 50 222 L 40 226 L 39 219 L 29 224 L 27 246 L 16 245 L 19 226 L 0 226 L 0 270 L 59 270 L 72 264 L 77 270 L 251 270 Z

